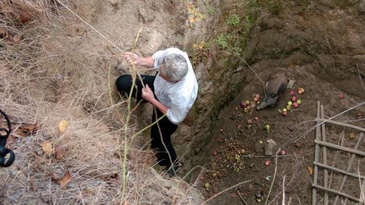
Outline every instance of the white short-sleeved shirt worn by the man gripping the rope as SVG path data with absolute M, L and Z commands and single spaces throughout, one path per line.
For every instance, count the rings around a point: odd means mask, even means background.
M 187 112 L 193 106 L 194 101 L 197 98 L 198 83 L 187 53 L 180 49 L 169 48 L 164 51 L 157 51 L 152 55 L 154 60 L 153 67 L 160 67 L 164 60 L 164 56 L 171 53 L 177 53 L 184 56 L 189 68 L 186 76 L 176 83 L 170 83 L 161 78 L 160 75 L 156 75 L 153 86 L 157 99 L 168 107 L 166 113 L 168 120 L 174 124 L 179 124 L 184 120 Z

